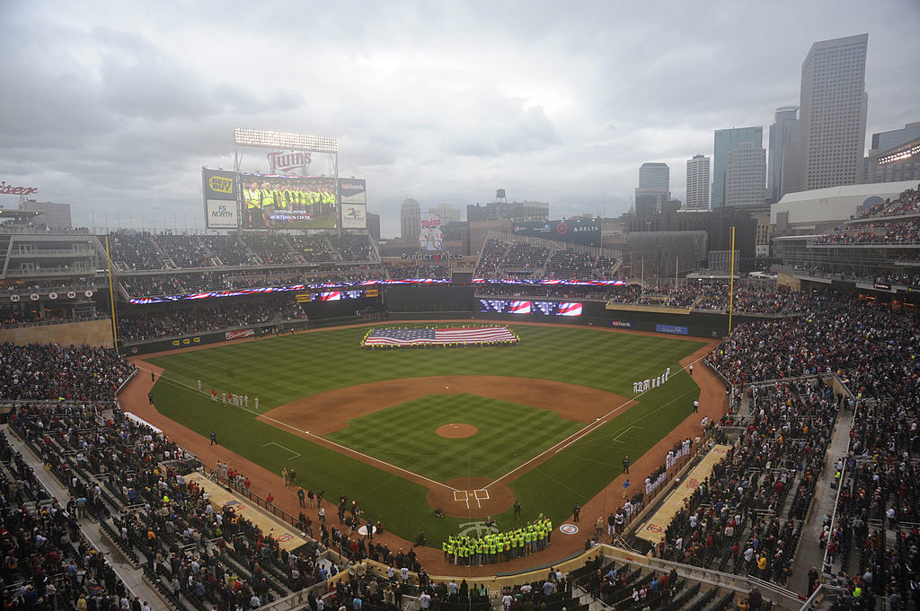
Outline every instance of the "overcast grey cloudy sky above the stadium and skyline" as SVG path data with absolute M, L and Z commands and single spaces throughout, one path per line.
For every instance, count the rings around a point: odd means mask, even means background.
M 862 32 L 868 133 L 920 120 L 916 0 L 0 0 L 0 23 L 0 179 L 87 226 L 201 226 L 201 165 L 232 166 L 236 126 L 338 137 L 385 235 L 404 198 L 497 187 L 613 216 L 647 161 L 683 199 L 713 130 L 766 133 L 811 43 Z

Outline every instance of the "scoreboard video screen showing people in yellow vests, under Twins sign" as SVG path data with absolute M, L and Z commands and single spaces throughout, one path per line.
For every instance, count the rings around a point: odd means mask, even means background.
M 336 179 L 324 176 L 240 175 L 246 229 L 334 229 Z

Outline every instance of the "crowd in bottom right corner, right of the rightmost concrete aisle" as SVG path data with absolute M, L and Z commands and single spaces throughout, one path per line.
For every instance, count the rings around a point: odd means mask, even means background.
M 920 373 L 913 363 L 861 368 L 846 384 L 863 401 L 854 413 L 837 518 L 819 541 L 824 571 L 871 594 L 920 603 Z M 892 599 L 890 599 L 891 602 Z M 898 608 L 897 605 L 891 608 Z

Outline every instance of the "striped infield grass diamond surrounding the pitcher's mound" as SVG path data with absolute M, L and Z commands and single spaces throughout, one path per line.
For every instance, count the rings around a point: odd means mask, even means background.
M 435 433 L 454 423 L 479 432 L 463 439 Z M 527 405 L 472 394 L 430 395 L 351 420 L 326 437 L 434 481 L 495 479 L 583 426 Z

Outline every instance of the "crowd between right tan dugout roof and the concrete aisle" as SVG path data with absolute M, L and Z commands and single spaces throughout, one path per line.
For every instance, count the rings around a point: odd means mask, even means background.
M 785 583 L 843 396 L 822 379 L 755 390 L 739 442 L 674 515 L 658 553 Z

